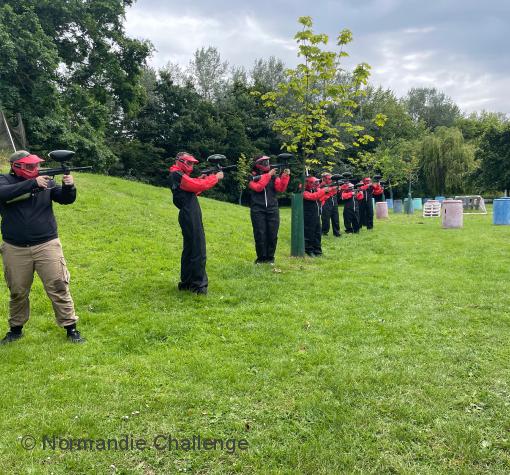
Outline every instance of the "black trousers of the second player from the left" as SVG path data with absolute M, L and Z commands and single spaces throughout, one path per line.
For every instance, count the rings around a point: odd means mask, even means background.
M 192 291 L 207 290 L 205 271 L 206 249 L 202 212 L 199 206 L 179 211 L 182 230 L 181 282 L 182 288 Z

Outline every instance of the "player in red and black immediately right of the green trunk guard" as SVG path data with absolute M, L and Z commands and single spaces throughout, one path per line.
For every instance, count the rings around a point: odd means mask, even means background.
M 321 256 L 321 199 L 326 189 L 319 188 L 317 178 L 308 177 L 303 193 L 303 218 L 305 228 L 305 252 L 311 256 Z

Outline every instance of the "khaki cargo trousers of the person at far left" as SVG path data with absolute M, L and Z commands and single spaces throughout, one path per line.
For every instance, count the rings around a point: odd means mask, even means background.
M 30 315 L 29 294 L 37 272 L 55 311 L 57 324 L 71 325 L 78 317 L 69 292 L 69 271 L 60 239 L 30 247 L 12 246 L 4 242 L 0 248 L 4 276 L 9 287 L 9 325 L 22 326 Z

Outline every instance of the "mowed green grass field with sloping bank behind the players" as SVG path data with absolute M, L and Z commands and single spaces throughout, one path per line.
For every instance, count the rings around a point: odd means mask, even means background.
M 92 175 L 77 186 L 55 211 L 89 341 L 65 341 L 36 279 L 25 337 L 0 347 L 1 473 L 510 471 L 510 228 L 390 212 L 295 259 L 285 209 L 273 269 L 253 265 L 249 209 L 200 198 L 203 298 L 176 288 L 169 190 Z M 0 306 L 7 316 L 5 286 Z M 249 448 L 41 448 L 45 435 L 159 434 Z

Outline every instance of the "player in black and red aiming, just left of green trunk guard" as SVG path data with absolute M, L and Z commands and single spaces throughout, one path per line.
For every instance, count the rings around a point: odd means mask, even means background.
M 290 170 L 276 176 L 269 157 L 255 159 L 248 187 L 251 191 L 250 216 L 255 239 L 257 259 L 255 264 L 273 264 L 280 227 L 277 193 L 284 193 L 290 180 Z

